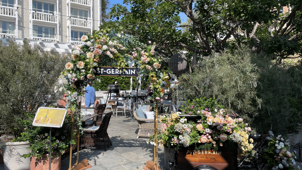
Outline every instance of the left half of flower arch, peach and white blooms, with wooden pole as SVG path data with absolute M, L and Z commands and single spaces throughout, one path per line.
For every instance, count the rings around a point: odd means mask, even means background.
M 77 139 L 79 151 L 79 133 L 82 129 L 80 121 L 80 96 L 85 93 L 84 87 L 87 81 L 95 77 L 95 67 L 98 65 L 109 65 L 116 62 L 118 67 L 126 67 L 124 51 L 126 48 L 115 39 L 106 35 L 108 30 L 93 31 L 92 34 L 83 35 L 81 41 L 83 45 L 74 45 L 72 49 L 72 59 L 65 65 L 62 75 L 66 77 L 67 83 L 64 84 L 66 90 L 70 91 L 67 97 L 69 103 L 66 104 L 67 113 L 72 115 L 72 122 L 77 125 Z M 72 125 L 73 127 L 73 125 Z M 69 169 L 71 168 L 72 146 L 70 146 Z M 77 157 L 77 163 L 78 163 Z

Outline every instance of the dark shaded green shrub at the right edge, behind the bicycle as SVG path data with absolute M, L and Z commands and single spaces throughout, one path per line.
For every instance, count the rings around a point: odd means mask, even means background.
M 286 135 L 297 129 L 299 121 L 301 107 L 295 103 L 302 99 L 302 68 L 275 65 L 270 58 L 259 55 L 253 59 L 260 74 L 257 98 L 262 100 L 254 124 L 259 131 Z

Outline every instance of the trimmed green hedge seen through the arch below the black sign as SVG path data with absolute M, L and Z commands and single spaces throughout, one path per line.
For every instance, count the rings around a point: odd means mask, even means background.
M 115 81 L 117 81 L 120 85 L 120 90 L 130 90 L 130 79 L 131 77 L 95 76 L 95 78 L 93 79 L 92 87 L 94 87 L 96 91 L 107 91 L 108 85 L 113 84 Z M 133 77 L 132 81 L 132 89 L 134 90 L 136 88 L 136 77 Z

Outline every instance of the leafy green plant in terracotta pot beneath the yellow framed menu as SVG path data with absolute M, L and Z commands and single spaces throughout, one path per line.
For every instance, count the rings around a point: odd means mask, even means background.
M 24 158 L 30 158 L 31 169 L 44 169 L 49 166 L 49 128 L 41 126 L 32 126 L 35 114 L 27 114 L 27 119 L 20 120 L 23 132 L 20 137 L 13 141 L 29 141 L 29 153 L 21 155 Z M 52 169 L 60 169 L 61 155 L 64 154 L 71 144 L 76 144 L 71 139 L 71 130 L 73 130 L 71 114 L 65 117 L 61 128 L 52 128 L 51 134 L 51 166 Z M 75 135 L 75 134 L 74 134 Z

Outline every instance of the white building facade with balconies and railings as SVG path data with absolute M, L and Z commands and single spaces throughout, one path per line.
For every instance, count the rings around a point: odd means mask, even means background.
M 81 44 L 99 25 L 100 0 L 0 0 L 1 39 Z

